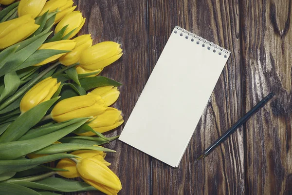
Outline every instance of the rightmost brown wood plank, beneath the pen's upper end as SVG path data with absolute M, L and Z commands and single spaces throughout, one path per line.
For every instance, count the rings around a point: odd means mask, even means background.
M 246 123 L 247 193 L 291 195 L 292 1 L 240 3 L 245 111 L 275 94 Z

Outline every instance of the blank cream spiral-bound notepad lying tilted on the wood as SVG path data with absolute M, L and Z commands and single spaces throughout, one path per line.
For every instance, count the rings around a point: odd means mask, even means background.
M 177 167 L 229 55 L 176 26 L 119 139 Z

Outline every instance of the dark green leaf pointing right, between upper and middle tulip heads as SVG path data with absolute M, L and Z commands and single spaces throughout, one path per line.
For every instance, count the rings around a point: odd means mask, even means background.
M 81 78 L 80 80 L 81 86 L 85 89 L 85 91 L 96 88 L 96 87 L 104 87 L 104 86 L 120 86 L 121 83 L 112 80 L 106 77 L 89 77 L 89 78 Z

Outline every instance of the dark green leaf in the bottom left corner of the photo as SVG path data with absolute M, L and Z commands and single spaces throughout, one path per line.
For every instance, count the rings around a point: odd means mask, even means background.
M 11 182 L 0 183 L 0 195 L 41 195 L 38 192 Z

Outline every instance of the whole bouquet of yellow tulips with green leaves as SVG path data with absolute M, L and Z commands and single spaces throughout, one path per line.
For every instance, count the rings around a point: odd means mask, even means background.
M 122 56 L 120 44 L 76 37 L 85 18 L 73 0 L 13 2 L 0 0 L 7 5 L 0 11 L 0 194 L 116 195 L 122 185 L 105 160 L 115 151 L 101 145 L 117 138 L 102 133 L 124 122 L 110 107 L 121 84 L 97 75 Z M 75 177 L 83 181 L 66 179 Z

